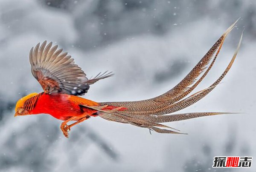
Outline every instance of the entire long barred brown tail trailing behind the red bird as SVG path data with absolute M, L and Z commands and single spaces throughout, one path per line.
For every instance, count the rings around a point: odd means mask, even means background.
M 237 21 L 236 21 L 237 22 Z M 175 115 L 166 115 L 173 112 L 180 111 L 197 101 L 201 100 L 204 96 L 209 94 L 225 77 L 227 72 L 229 72 L 231 66 L 233 65 L 236 55 L 239 51 L 242 35 L 239 40 L 239 44 L 236 48 L 233 57 L 222 73 L 222 75 L 214 82 L 211 86 L 206 89 L 203 89 L 199 92 L 196 92 L 189 96 L 189 94 L 198 86 L 198 84 L 206 77 L 210 69 L 215 63 L 215 60 L 221 50 L 221 47 L 224 43 L 227 34 L 234 28 L 235 23 L 231 25 L 224 34 L 217 40 L 217 42 L 212 46 L 212 48 L 207 52 L 207 54 L 199 61 L 199 63 L 189 72 L 186 77 L 180 81 L 173 89 L 168 92 L 154 97 L 148 100 L 140 101 L 130 101 L 130 102 L 101 102 L 99 106 L 85 106 L 99 111 L 99 116 L 106 120 L 115 121 L 119 123 L 129 123 L 135 126 L 148 128 L 159 133 L 172 133 L 172 134 L 185 134 L 180 132 L 175 132 L 170 129 L 172 127 L 163 125 L 161 123 L 178 121 L 178 120 L 187 120 L 192 118 L 211 116 L 211 115 L 221 115 L 221 114 L 230 114 L 228 112 L 195 112 L 195 113 L 185 113 L 185 114 L 175 114 Z M 215 56 L 214 56 L 215 54 Z M 213 58 L 214 56 L 214 58 Z M 213 58 L 213 59 L 212 59 Z M 212 62 L 210 63 L 210 61 Z M 207 65 L 210 65 L 207 68 Z M 203 73 L 204 72 L 204 73 Z M 203 75 L 201 75 L 203 73 Z M 198 79 L 198 77 L 201 77 Z M 99 75 L 97 77 L 105 76 Z M 197 80 L 198 79 L 198 80 Z M 186 97 L 188 96 L 188 97 Z M 161 129 L 158 127 L 168 128 Z M 174 129 L 177 130 L 177 129 Z M 177 130 L 179 131 L 179 130 Z

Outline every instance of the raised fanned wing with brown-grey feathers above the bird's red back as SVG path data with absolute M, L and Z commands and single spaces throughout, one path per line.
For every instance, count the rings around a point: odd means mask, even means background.
M 112 76 L 111 73 L 97 76 L 88 80 L 84 71 L 75 64 L 74 59 L 67 52 L 58 49 L 58 45 L 52 47 L 52 42 L 38 43 L 29 53 L 32 75 L 41 84 L 44 92 L 54 92 L 69 95 L 84 95 L 90 88 L 90 84 L 100 79 Z

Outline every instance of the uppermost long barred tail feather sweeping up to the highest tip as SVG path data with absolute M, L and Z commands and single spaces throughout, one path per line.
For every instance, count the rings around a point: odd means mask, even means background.
M 237 20 L 236 20 L 237 22 Z M 212 46 L 212 48 L 207 52 L 207 54 L 198 62 L 198 64 L 192 69 L 191 72 L 182 80 L 180 83 L 177 84 L 173 89 L 169 90 L 168 92 L 164 93 L 163 95 L 160 95 L 158 97 L 154 97 L 148 100 L 140 100 L 140 101 L 130 101 L 130 102 L 102 102 L 101 105 L 112 105 L 112 106 L 123 106 L 128 108 L 127 111 L 123 111 L 123 114 L 130 114 L 132 112 L 147 112 L 152 110 L 152 107 L 164 107 L 166 106 L 166 103 L 172 104 L 177 102 L 178 100 L 181 100 L 183 97 L 186 97 L 190 92 L 192 92 L 196 86 L 204 79 L 204 77 L 208 74 L 209 70 L 213 66 L 218 53 L 224 43 L 225 38 L 227 37 L 227 34 L 231 32 L 231 30 L 234 28 L 235 23 L 233 23 L 227 30 L 222 34 L 222 36 L 217 40 L 217 42 Z M 218 50 L 217 50 L 218 49 Z M 212 59 L 213 54 L 217 53 L 212 60 L 212 63 L 209 65 L 207 71 L 204 73 L 204 75 L 201 76 L 201 78 L 191 87 L 189 87 L 192 83 L 195 82 L 196 78 L 201 75 L 202 72 L 204 72 L 204 69 L 206 69 L 207 64 Z

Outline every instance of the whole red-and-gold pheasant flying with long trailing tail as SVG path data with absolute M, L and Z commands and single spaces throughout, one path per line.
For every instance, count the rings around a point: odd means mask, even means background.
M 71 127 L 90 117 L 98 116 L 110 121 L 147 128 L 158 133 L 185 134 L 162 123 L 229 114 L 228 112 L 172 113 L 201 100 L 221 82 L 230 70 L 238 53 L 242 34 L 233 58 L 222 75 L 208 88 L 190 95 L 212 68 L 227 34 L 234 28 L 236 22 L 221 35 L 191 72 L 174 88 L 160 96 L 140 101 L 98 103 L 79 97 L 87 93 L 90 85 L 113 76 L 113 73 L 99 73 L 96 77 L 88 79 L 84 71 L 74 63 L 74 59 L 67 52 L 61 53 L 62 49 L 58 49 L 58 45 L 52 46 L 52 42 L 47 44 L 47 41 L 41 45 L 38 43 L 35 48 L 32 47 L 30 50 L 29 61 L 32 75 L 41 84 L 44 92 L 31 93 L 18 100 L 15 116 L 52 115 L 54 118 L 64 121 L 60 128 L 67 138 Z M 69 122 L 73 123 L 68 125 Z

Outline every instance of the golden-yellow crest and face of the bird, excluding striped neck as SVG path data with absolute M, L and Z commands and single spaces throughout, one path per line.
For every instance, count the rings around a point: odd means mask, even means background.
M 24 108 L 24 103 L 26 100 L 28 100 L 31 97 L 34 97 L 35 95 L 38 95 L 38 93 L 31 93 L 29 95 L 26 95 L 25 97 L 22 97 L 20 100 L 17 101 L 16 107 L 15 107 L 15 117 L 16 116 L 23 116 L 23 115 L 30 115 L 29 110 Z

